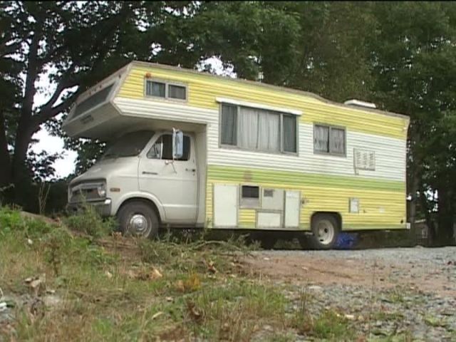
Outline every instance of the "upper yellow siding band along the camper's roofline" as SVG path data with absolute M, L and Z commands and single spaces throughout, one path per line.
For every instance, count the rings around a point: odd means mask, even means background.
M 341 125 L 362 133 L 383 135 L 392 138 L 407 137 L 407 118 L 396 118 L 380 113 L 363 112 L 331 103 L 324 103 L 309 95 L 290 93 L 284 90 L 265 88 L 248 83 L 239 83 L 229 78 L 220 79 L 204 73 L 188 73 L 161 68 L 134 66 L 125 78 L 119 97 L 140 99 L 144 97 L 145 74 L 188 85 L 188 104 L 198 108 L 217 109 L 216 97 L 233 98 L 281 108 L 301 110 L 303 123 L 328 123 Z

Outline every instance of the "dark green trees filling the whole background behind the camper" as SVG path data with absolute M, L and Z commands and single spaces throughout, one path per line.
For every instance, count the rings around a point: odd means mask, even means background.
M 371 100 L 410 115 L 412 206 L 450 241 L 456 216 L 455 3 L 3 1 L 0 6 L 0 187 L 14 183 L 12 200 L 24 208 L 36 208 L 30 204 L 30 179 L 52 176 L 51 162 L 58 157 L 27 155 L 31 135 L 46 125 L 62 136 L 61 120 L 79 93 L 132 59 L 215 72 L 205 62 L 215 57 L 222 73 L 232 70 L 239 78 L 330 100 Z M 36 88 L 45 74 L 55 88 L 49 94 Z M 38 105 L 38 93 L 46 93 L 48 102 Z M 103 142 L 63 138 L 79 152 L 77 172 L 103 152 Z M 432 229 L 432 236 L 436 233 Z

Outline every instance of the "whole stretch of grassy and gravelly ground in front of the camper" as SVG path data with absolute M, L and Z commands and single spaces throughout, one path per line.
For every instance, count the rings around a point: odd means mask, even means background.
M 67 234 L 66 249 L 0 240 L 0 341 L 68 329 L 71 341 L 456 341 L 456 247 L 252 252 Z

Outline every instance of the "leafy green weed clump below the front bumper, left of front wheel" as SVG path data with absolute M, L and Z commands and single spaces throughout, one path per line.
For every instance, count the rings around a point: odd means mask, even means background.
M 95 207 L 90 205 L 85 205 L 80 212 L 66 217 L 64 222 L 69 229 L 88 234 L 91 237 L 103 237 L 117 227 L 115 218 L 103 219 Z

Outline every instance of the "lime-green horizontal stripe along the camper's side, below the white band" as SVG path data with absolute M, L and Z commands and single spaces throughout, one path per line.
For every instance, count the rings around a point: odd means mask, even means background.
M 208 165 L 208 180 L 269 183 L 288 186 L 336 187 L 356 190 L 405 192 L 405 182 L 398 180 L 368 180 L 366 178 L 318 175 L 304 172 L 274 171 Z

